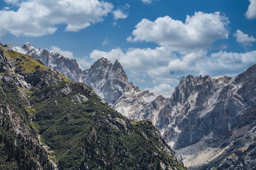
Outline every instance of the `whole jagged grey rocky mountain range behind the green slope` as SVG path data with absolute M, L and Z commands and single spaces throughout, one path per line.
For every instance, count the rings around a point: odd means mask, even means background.
M 118 60 L 99 59 L 82 71 L 75 60 L 26 43 L 6 48 L 32 55 L 69 79 L 88 84 L 112 108 L 134 121 L 148 119 L 189 169 L 256 166 L 256 65 L 237 77 L 182 77 L 170 98 L 141 91 Z

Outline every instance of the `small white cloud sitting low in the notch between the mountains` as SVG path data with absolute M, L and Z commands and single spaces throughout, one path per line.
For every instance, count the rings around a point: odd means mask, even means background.
M 148 90 L 154 93 L 155 96 L 162 95 L 166 98 L 171 97 L 174 92 L 174 88 L 169 84 L 159 84 L 159 86 L 155 86 L 153 88 L 145 88 L 144 90 Z

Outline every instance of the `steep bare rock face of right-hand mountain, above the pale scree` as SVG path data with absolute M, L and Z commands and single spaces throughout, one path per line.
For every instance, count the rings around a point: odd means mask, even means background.
M 247 109 L 256 106 L 255 68 L 250 67 L 236 79 L 183 77 L 160 112 L 156 127 L 176 149 L 205 137 L 228 137 L 243 121 Z

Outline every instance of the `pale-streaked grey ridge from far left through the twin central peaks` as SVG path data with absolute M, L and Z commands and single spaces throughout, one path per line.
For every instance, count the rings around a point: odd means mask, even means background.
M 82 71 L 76 60 L 63 57 L 58 53 L 50 53 L 45 49 L 35 49 L 29 42 L 22 46 L 13 46 L 12 44 L 5 44 L 4 46 L 13 51 L 32 55 L 41 60 L 46 66 L 55 68 L 70 80 L 88 84 L 112 108 L 131 119 L 155 119 L 152 114 L 134 115 L 138 108 L 143 110 L 144 107 L 141 106 L 147 105 L 156 97 L 153 93 L 141 91 L 131 82 L 128 82 L 127 75 L 118 60 L 112 64 L 107 59 L 101 58 L 91 68 Z M 140 95 L 137 95 L 138 93 Z M 161 106 L 154 105 L 154 107 Z M 156 115 L 156 113 L 154 112 L 153 115 Z

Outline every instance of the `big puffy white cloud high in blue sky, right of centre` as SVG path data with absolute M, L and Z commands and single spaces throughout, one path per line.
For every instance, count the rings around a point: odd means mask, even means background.
M 127 41 L 155 42 L 170 51 L 185 54 L 211 48 L 216 40 L 227 39 L 228 24 L 228 18 L 220 12 L 195 12 L 193 16 L 186 16 L 185 23 L 169 16 L 159 17 L 153 22 L 142 19 Z

